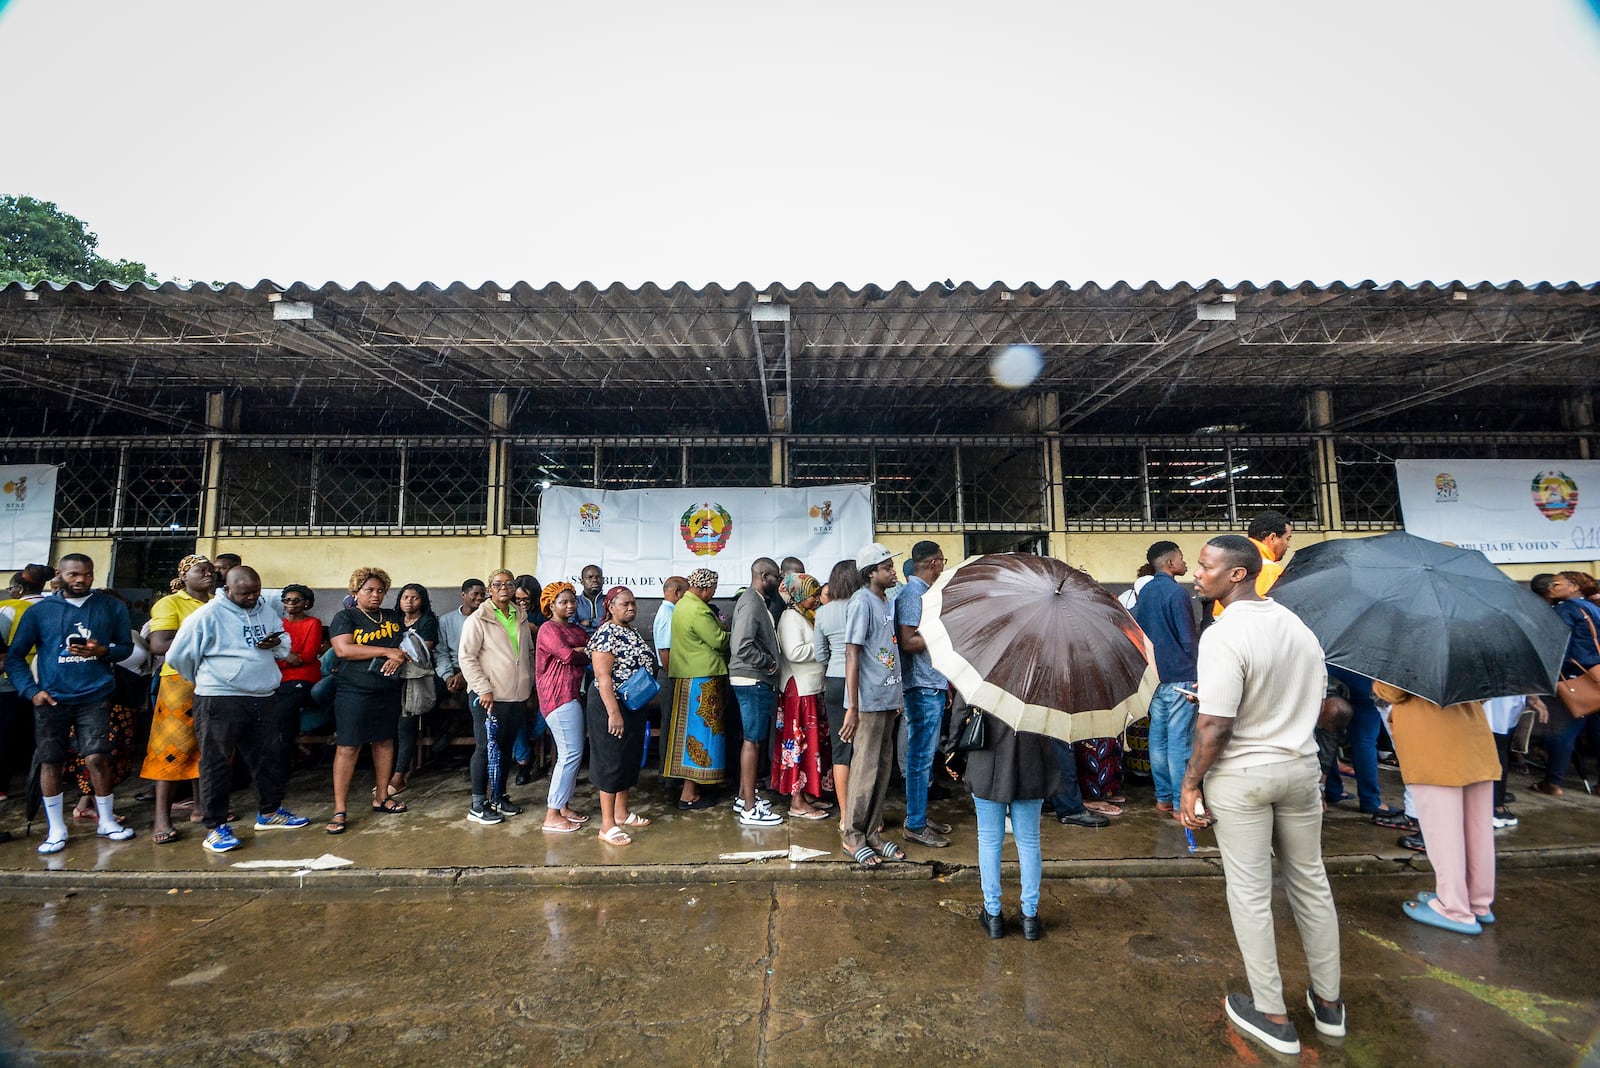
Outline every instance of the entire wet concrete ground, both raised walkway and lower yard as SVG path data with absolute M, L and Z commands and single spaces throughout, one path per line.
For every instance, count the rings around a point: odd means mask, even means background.
M 1480 938 L 1405 919 L 1432 886 L 1426 860 L 1334 809 L 1352 1034 L 1315 1038 L 1306 972 L 1282 900 L 1278 938 L 1306 1063 L 1570 1065 L 1594 1062 L 1600 1022 L 1594 910 L 1600 799 L 1512 787 L 1522 827 L 1499 831 L 1501 923 Z M 363 785 L 358 775 L 357 785 Z M 1384 777 L 1398 799 L 1398 779 Z M 198 828 L 112 844 L 75 823 L 66 852 L 0 844 L 0 1007 L 18 1063 L 133 1065 L 1258 1065 L 1221 1002 L 1243 988 L 1219 863 L 1131 787 L 1106 830 L 1045 820 L 1043 942 L 978 927 L 970 799 L 934 803 L 949 849 L 866 875 L 835 825 L 750 831 L 723 804 L 678 812 L 646 772 L 654 825 L 626 849 L 592 831 L 542 835 L 528 812 L 466 820 L 466 775 L 424 772 L 405 815 L 352 812 L 322 833 L 326 771 L 290 804 L 318 822 L 254 835 L 214 857 Z M 235 795 L 242 812 L 253 796 Z M 594 809 L 592 788 L 578 807 Z M 901 807 L 891 803 L 890 827 Z M 0 828 L 21 830 L 19 801 Z M 790 847 L 826 851 L 803 862 Z M 728 860 L 776 851 L 781 859 Z M 302 871 L 336 854 L 354 862 Z M 1006 847 L 1006 859 L 1014 854 Z M 280 862 L 285 868 L 240 868 Z M 1008 915 L 1016 911 L 1006 865 Z

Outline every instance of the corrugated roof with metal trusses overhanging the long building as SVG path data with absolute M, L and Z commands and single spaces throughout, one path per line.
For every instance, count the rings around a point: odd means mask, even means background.
M 1024 390 L 989 376 L 1010 344 L 1045 357 Z M 992 432 L 1040 393 L 1064 430 L 1290 430 L 1318 389 L 1339 420 L 1546 428 L 1600 381 L 1600 285 L 13 283 L 0 369 L 82 432 L 192 427 L 218 390 L 258 433 L 482 432 L 498 392 L 522 433 L 762 433 L 774 395 L 794 432 Z

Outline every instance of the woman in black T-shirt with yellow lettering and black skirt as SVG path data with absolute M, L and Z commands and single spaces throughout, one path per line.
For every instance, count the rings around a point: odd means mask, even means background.
M 405 620 L 400 612 L 384 608 L 389 572 L 381 568 L 357 568 L 350 576 L 355 608 L 333 617 L 328 635 L 339 657 L 339 686 L 333 695 L 333 820 L 330 835 L 342 835 L 355 756 L 363 745 L 373 748 L 373 779 L 387 783 L 395 769 L 395 735 L 400 727 L 400 665 L 410 657 L 400 649 Z M 373 812 L 405 812 L 403 801 L 384 798 L 373 803 Z

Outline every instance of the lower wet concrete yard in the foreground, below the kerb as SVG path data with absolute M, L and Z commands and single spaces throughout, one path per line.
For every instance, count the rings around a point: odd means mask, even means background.
M 1421 927 L 1416 875 L 1338 876 L 1350 1034 L 1322 1065 L 1571 1065 L 1600 1020 L 1600 870 L 1501 883 L 1480 938 Z M 1014 886 L 1011 887 L 1014 894 Z M 13 1063 L 1259 1065 L 1218 879 L 1051 879 L 1042 942 L 976 884 L 3 891 Z M 1590 1055 L 1592 1057 L 1592 1055 Z

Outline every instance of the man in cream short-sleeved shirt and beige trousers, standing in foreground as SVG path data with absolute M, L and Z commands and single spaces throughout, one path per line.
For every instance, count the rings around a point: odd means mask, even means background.
M 1298 1054 L 1272 931 L 1274 844 L 1306 946 L 1306 1004 L 1320 1033 L 1344 1034 L 1339 918 L 1322 862 L 1312 737 L 1328 671 L 1306 624 L 1256 593 L 1259 572 L 1261 553 L 1250 539 L 1224 534 L 1200 550 L 1195 590 L 1227 611 L 1200 636 L 1200 715 L 1179 814 L 1189 828 L 1214 822 L 1222 852 L 1227 911 L 1250 978 L 1250 996 L 1227 996 L 1227 1017 L 1269 1049 Z

